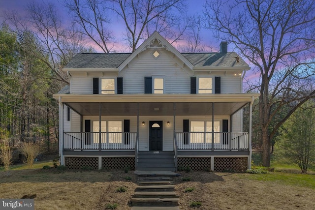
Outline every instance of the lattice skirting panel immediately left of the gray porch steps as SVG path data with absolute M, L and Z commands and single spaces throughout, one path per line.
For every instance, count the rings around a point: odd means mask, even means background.
M 134 170 L 134 157 L 102 157 L 102 168 Z

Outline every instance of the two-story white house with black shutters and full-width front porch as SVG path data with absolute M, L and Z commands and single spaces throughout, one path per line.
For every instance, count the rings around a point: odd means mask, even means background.
M 76 55 L 59 100 L 70 169 L 244 171 L 251 167 L 250 66 L 236 53 L 179 53 L 154 32 L 133 53 Z M 250 109 L 243 131 L 243 108 Z

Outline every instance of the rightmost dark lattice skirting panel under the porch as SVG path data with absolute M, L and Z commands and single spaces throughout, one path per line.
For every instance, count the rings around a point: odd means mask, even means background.
M 215 157 L 214 170 L 218 172 L 245 172 L 247 157 Z

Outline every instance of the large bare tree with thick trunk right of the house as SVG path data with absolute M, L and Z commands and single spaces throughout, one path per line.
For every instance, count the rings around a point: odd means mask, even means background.
M 263 166 L 270 166 L 271 140 L 292 113 L 314 97 L 314 0 L 207 1 L 206 27 L 230 41 L 260 75 Z M 286 114 L 278 117 L 285 107 Z M 272 121 L 277 121 L 272 125 Z

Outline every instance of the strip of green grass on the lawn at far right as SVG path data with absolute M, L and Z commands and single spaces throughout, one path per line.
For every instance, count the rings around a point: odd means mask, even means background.
M 286 185 L 308 187 L 315 189 L 315 179 L 314 175 L 309 174 L 291 174 L 283 172 L 272 172 L 268 174 L 249 174 L 244 177 L 244 175 L 239 175 L 240 178 L 258 181 L 275 181 Z

